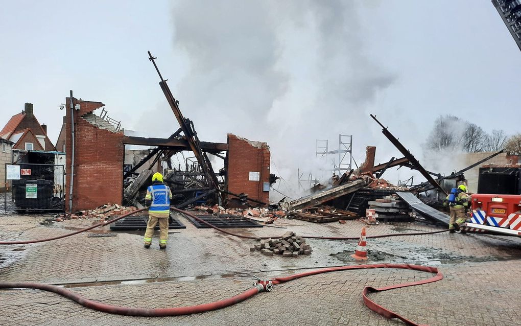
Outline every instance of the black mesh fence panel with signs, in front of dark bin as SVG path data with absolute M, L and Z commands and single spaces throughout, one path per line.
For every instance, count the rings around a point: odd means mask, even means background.
M 17 166 L 19 179 L 8 179 L 8 165 Z M 5 164 L 5 210 L 65 210 L 65 169 L 54 164 Z M 11 167 L 13 169 L 13 167 Z

